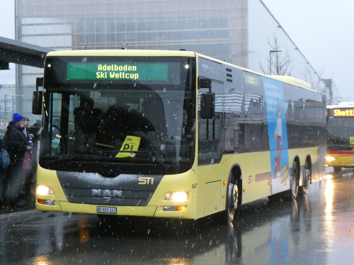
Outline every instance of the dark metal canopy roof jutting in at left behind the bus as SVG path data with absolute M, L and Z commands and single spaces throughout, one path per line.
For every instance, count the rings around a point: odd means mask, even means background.
M 0 37 L 0 60 L 44 68 L 44 58 L 53 49 Z

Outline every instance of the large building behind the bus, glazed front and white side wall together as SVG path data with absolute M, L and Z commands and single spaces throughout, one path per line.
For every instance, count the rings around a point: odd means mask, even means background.
M 17 0 L 16 13 L 17 40 L 34 45 L 55 50 L 126 45 L 185 49 L 267 74 L 272 72 L 269 51 L 276 40 L 279 56 L 289 58 L 288 74 L 324 89 L 261 0 Z M 18 65 L 17 83 L 34 85 L 42 74 L 42 69 Z M 19 89 L 19 94 L 30 100 L 33 89 L 26 89 Z M 19 108 L 32 115 L 30 102 Z

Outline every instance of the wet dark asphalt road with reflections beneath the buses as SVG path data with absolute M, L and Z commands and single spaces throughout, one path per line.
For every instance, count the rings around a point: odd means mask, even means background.
M 27 206 L 33 209 L 33 202 Z M 322 180 L 294 202 L 261 199 L 230 226 L 0 210 L 0 264 L 353 264 L 354 178 Z

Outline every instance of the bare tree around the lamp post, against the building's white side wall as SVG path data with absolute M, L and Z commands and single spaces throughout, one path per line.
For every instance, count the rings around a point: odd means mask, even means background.
M 273 43 L 268 39 L 268 44 L 270 46 L 269 58 L 267 58 L 268 66 L 265 68 L 261 62 L 259 62 L 259 68 L 265 75 L 269 73 L 271 75 L 291 75 L 292 67 L 292 59 L 289 56 L 288 52 L 280 52 L 280 46 L 278 44 L 278 38 L 274 34 Z M 271 52 L 274 51 L 274 52 Z M 279 52 L 275 52 L 279 51 Z

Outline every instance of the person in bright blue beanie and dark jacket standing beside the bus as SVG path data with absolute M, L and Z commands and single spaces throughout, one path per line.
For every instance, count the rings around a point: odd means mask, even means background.
M 32 151 L 32 147 L 28 145 L 27 137 L 22 131 L 23 116 L 14 113 L 4 137 L 11 163 L 4 179 L 2 198 L 5 203 L 16 207 L 25 206 L 25 202 L 19 201 L 23 183 L 27 181 L 27 172 L 22 169 L 22 160 L 26 152 Z

